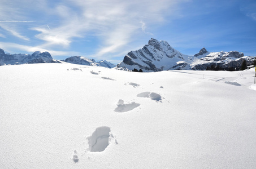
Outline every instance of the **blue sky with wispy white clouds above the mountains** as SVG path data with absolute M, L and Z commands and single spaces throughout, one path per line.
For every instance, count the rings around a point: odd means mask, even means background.
M 240 51 L 256 56 L 256 1 L 1 0 L 0 48 L 49 51 L 120 63 L 150 38 L 186 55 Z

